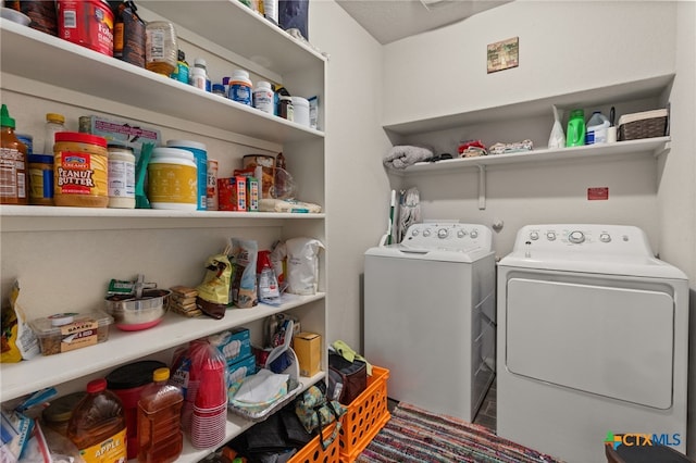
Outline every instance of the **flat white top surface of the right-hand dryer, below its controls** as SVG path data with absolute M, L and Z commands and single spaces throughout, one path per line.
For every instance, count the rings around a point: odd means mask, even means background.
M 674 265 L 643 255 L 513 251 L 502 258 L 498 265 L 558 272 L 686 279 L 686 274 Z

